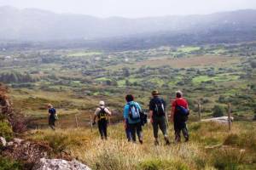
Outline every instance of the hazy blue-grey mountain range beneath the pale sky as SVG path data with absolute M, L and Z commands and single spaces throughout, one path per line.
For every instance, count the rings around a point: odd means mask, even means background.
M 256 10 L 139 19 L 55 14 L 40 9 L 0 7 L 0 40 L 60 41 L 116 38 L 147 43 L 256 40 Z M 121 38 L 121 40 L 119 39 Z

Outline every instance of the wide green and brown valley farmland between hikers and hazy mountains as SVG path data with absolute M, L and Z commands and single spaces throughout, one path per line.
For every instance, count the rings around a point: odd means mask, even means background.
M 181 89 L 194 115 L 198 102 L 206 117 L 214 105 L 229 102 L 238 119 L 254 114 L 255 42 L 129 51 L 27 48 L 1 51 L 0 59 L 0 81 L 9 84 L 15 108 L 37 125 L 46 126 L 48 103 L 59 111 L 61 127 L 75 126 L 74 115 L 88 125 L 101 99 L 120 118 L 127 93 L 147 111 L 153 89 L 168 103 Z

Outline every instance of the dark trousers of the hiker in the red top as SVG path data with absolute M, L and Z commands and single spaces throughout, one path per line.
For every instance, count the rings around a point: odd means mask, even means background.
M 189 130 L 187 128 L 186 124 L 187 117 L 182 116 L 174 116 L 174 131 L 175 131 L 175 141 L 180 142 L 181 141 L 181 135 L 180 133 L 183 132 L 183 137 L 185 141 L 189 140 Z

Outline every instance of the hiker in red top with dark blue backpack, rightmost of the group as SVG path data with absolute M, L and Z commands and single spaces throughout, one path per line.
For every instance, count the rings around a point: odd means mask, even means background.
M 189 105 L 186 99 L 183 99 L 181 91 L 176 92 L 176 99 L 172 102 L 171 119 L 174 124 L 175 141 L 180 142 L 181 131 L 185 142 L 189 141 L 189 131 L 186 125 L 189 116 Z

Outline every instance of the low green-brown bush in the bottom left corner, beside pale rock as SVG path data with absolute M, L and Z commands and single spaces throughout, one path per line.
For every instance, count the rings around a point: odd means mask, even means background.
M 19 170 L 23 169 L 20 162 L 9 160 L 0 156 L 0 170 Z

